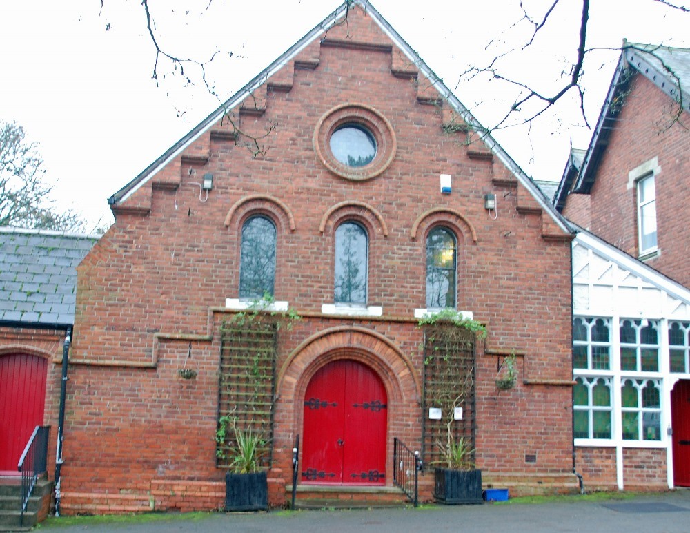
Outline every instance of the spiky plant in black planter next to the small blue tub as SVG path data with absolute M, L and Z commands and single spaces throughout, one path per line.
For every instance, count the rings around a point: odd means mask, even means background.
M 436 443 L 442 461 L 437 461 L 440 467 L 434 470 L 433 496 L 446 505 L 483 503 L 482 471 L 475 468 L 473 461 L 475 449 L 468 438 L 453 436 L 451 424 L 449 420 L 446 425 L 446 442 Z

